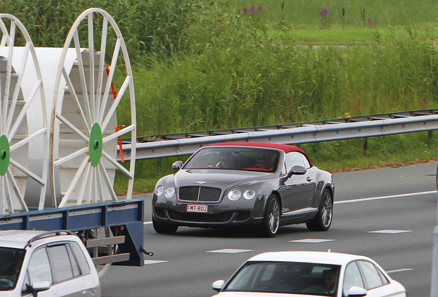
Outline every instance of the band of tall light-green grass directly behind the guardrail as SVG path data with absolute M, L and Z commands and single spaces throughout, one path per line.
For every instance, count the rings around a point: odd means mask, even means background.
M 438 53 L 428 41 L 312 50 L 242 23 L 204 33 L 199 53 L 138 69 L 141 135 L 436 106 Z

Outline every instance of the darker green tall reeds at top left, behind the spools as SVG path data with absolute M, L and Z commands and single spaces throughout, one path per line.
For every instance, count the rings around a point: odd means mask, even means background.
M 87 8 L 103 8 L 112 15 L 121 29 L 131 61 L 136 64 L 147 60 L 146 54 L 168 58 L 173 52 L 185 50 L 185 29 L 205 5 L 202 0 L 0 1 L 0 11 L 20 19 L 37 47 L 63 47 L 74 20 Z M 98 18 L 95 21 L 97 25 Z M 86 30 L 84 23 L 79 34 L 85 34 Z M 95 43 L 98 49 L 97 38 Z M 16 44 L 20 45 L 20 41 Z

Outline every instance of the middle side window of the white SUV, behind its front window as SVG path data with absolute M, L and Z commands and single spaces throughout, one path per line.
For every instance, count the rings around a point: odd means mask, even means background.
M 48 247 L 48 254 L 52 264 L 54 283 L 73 277 L 72 264 L 65 244 Z

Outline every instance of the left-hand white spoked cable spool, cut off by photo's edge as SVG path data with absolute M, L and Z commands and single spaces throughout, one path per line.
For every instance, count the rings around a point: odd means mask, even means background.
M 0 14 L 0 28 L 0 214 L 5 214 L 44 206 L 48 120 L 39 61 L 28 31 L 11 14 Z M 14 46 L 19 32 L 24 47 Z

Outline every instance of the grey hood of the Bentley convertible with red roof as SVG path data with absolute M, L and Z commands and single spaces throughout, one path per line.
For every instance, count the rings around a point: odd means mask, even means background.
M 244 170 L 223 170 L 223 169 L 188 169 L 179 170 L 175 173 L 175 186 L 216 186 L 225 188 L 235 184 L 242 184 L 249 181 L 260 181 L 269 179 L 274 173 L 261 173 Z

